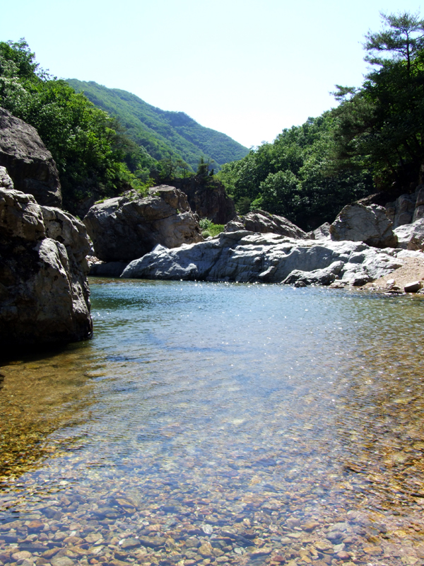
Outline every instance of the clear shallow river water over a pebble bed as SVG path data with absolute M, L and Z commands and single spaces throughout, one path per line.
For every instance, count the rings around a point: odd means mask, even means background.
M 0 561 L 424 564 L 423 300 L 92 283 L 0 368 Z

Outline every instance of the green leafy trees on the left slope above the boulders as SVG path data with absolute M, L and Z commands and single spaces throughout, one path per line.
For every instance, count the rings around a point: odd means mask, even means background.
M 148 182 L 151 157 L 106 112 L 42 71 L 25 40 L 0 42 L 0 105 L 37 129 L 71 212 L 91 195 L 110 197 Z

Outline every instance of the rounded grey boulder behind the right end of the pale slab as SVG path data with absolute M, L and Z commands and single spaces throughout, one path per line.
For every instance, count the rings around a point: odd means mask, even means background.
M 364 242 L 375 248 L 396 247 L 393 224 L 384 207 L 348 204 L 330 226 L 331 239 Z

